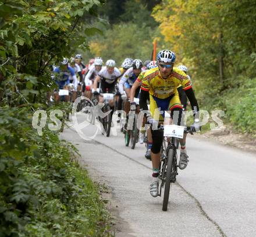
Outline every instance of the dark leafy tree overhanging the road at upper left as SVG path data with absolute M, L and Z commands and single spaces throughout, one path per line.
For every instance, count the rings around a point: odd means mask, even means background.
M 95 16 L 94 6 L 100 4 L 98 0 L 2 1 L 0 71 L 5 89 L 1 96 L 14 101 L 19 90 L 31 103 L 35 95 L 49 90 L 48 65 L 70 56 L 77 47 L 87 48 L 86 35 L 98 30 L 81 17 Z

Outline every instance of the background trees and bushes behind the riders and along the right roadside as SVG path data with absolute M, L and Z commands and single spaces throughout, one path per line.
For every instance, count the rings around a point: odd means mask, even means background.
M 109 10 L 115 5 L 116 10 Z M 87 57 L 151 59 L 157 50 L 176 53 L 189 68 L 200 107 L 225 111 L 225 122 L 254 134 L 256 119 L 256 2 L 162 0 L 108 1 L 101 11 L 111 25 L 89 41 Z M 104 17 L 104 14 L 102 14 Z M 239 98 L 239 101 L 234 101 Z

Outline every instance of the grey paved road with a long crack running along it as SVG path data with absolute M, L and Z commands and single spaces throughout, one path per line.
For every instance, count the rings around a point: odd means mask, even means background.
M 144 145 L 131 150 L 112 129 L 110 137 L 98 132 L 90 141 L 74 127 L 62 136 L 112 188 L 119 203 L 113 208 L 125 223 L 116 236 L 256 236 L 256 154 L 188 137 L 189 166 L 179 171 L 168 211 L 162 212 L 162 197 L 149 193 L 151 162 L 144 158 Z M 92 125 L 82 130 L 87 136 L 95 131 Z

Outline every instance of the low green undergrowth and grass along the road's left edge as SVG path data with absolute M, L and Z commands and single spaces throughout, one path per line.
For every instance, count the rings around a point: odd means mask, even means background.
M 72 144 L 31 127 L 31 112 L 0 113 L 0 236 L 112 236 L 100 187 Z

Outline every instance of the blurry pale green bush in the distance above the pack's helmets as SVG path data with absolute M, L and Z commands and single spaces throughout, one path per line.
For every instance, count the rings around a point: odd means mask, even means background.
M 104 32 L 104 37 L 91 40 L 91 53 L 101 56 L 105 61 L 114 59 L 119 65 L 126 57 L 151 59 L 155 32 L 154 29 L 141 28 L 133 23 L 113 25 L 112 29 Z

